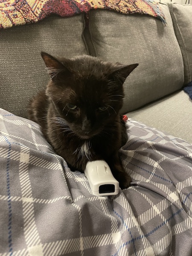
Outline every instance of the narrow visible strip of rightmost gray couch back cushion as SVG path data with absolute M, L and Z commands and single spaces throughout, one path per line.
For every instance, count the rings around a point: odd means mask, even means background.
M 168 3 L 184 63 L 184 84 L 192 81 L 192 5 Z

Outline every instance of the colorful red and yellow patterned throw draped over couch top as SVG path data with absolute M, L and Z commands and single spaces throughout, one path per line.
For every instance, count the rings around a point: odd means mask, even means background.
M 90 9 L 146 14 L 166 23 L 159 3 L 154 0 L 0 0 L 0 28 L 34 23 L 50 14 L 70 17 Z

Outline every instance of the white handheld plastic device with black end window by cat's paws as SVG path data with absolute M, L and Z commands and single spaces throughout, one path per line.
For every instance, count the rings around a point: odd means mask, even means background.
M 93 195 L 117 195 L 119 182 L 113 177 L 111 169 L 104 160 L 88 162 L 84 171 Z

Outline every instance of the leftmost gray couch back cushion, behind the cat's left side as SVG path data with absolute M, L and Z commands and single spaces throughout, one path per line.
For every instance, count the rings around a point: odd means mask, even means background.
M 87 54 L 83 15 L 50 16 L 41 22 L 0 30 L 0 108 L 27 116 L 29 99 L 49 77 L 41 51 L 55 56 Z

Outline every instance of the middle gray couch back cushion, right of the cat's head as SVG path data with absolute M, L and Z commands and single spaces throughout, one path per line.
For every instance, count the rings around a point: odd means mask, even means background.
M 107 10 L 89 13 L 85 31 L 91 55 L 123 64 L 139 63 L 124 83 L 122 113 L 133 111 L 183 86 L 183 59 L 168 6 L 161 4 L 167 24 L 145 15 Z

